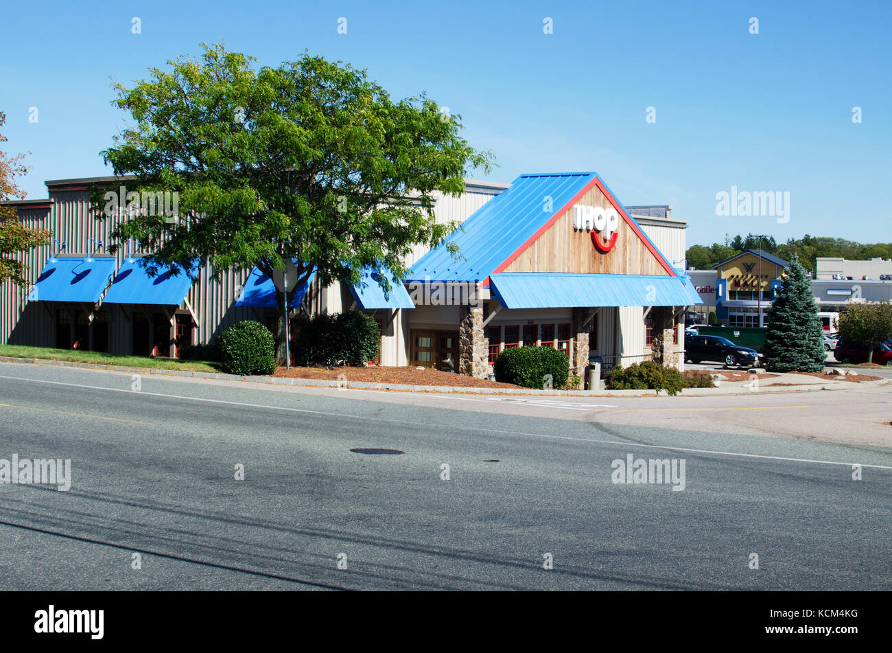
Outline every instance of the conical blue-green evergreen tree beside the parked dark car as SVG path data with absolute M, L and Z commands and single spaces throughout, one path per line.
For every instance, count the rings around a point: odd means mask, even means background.
M 765 368 L 773 372 L 820 372 L 827 352 L 812 281 L 794 256 L 768 311 Z

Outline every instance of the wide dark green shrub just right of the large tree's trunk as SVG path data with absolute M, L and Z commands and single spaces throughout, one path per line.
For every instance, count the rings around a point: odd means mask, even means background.
M 381 329 L 359 310 L 319 313 L 298 321 L 294 360 L 298 365 L 366 365 L 378 355 Z

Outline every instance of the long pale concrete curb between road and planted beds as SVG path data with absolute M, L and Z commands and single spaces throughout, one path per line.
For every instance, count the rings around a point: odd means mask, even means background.
M 100 365 L 97 363 L 79 363 L 72 360 L 53 360 L 53 359 L 23 359 L 12 356 L 0 356 L 0 362 L 7 363 L 29 363 L 34 365 L 48 365 L 60 368 L 86 368 L 86 369 L 105 369 L 113 372 L 129 372 L 131 374 L 152 374 L 160 376 L 186 376 L 189 378 L 205 378 L 224 381 L 247 381 L 258 384 L 275 384 L 275 385 L 297 385 L 304 387 L 330 387 L 341 389 L 355 390 L 394 390 L 401 392 L 421 392 L 421 393 L 445 393 L 445 394 L 522 394 L 527 396 L 552 396 L 552 397 L 668 397 L 670 396 L 665 390 L 533 390 L 523 389 L 515 390 L 512 388 L 475 388 L 475 387 L 459 387 L 448 385 L 409 385 L 409 384 L 379 384 L 368 381 L 326 381 L 325 379 L 310 378 L 281 378 L 278 376 L 238 376 L 235 374 L 224 374 L 222 372 L 194 372 L 181 369 L 161 369 L 161 368 L 136 368 L 124 365 Z M 757 390 L 750 390 L 743 384 L 747 381 L 723 382 L 722 386 L 717 388 L 687 388 L 682 390 L 676 396 L 683 397 L 709 397 L 714 395 L 734 395 L 734 394 L 764 394 L 764 393 L 797 393 L 815 390 L 846 390 L 847 386 L 855 385 L 847 381 L 822 381 L 817 379 L 814 383 L 784 385 L 780 387 L 772 387 L 771 385 L 759 386 Z M 889 379 L 880 379 L 879 381 L 863 381 L 857 385 L 882 385 L 890 383 Z M 740 384 L 735 387 L 735 384 Z

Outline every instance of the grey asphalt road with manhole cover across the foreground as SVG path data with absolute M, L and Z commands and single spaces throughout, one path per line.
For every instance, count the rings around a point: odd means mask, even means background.
M 0 364 L 0 459 L 72 468 L 67 492 L 0 484 L 0 588 L 892 589 L 892 449 L 727 425 L 820 428 L 822 402 L 888 412 L 888 390 L 541 404 L 139 382 Z M 630 454 L 683 459 L 683 491 L 614 484 Z

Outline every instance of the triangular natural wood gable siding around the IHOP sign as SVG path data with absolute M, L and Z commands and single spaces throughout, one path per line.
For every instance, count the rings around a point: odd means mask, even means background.
M 610 206 L 598 186 L 576 202 L 582 206 Z M 617 211 L 619 212 L 619 211 Z M 571 206 L 524 252 L 517 255 L 504 272 L 601 272 L 605 274 L 667 275 L 645 241 L 620 215 L 619 236 L 614 248 L 606 254 L 595 249 L 591 232 L 573 227 Z

